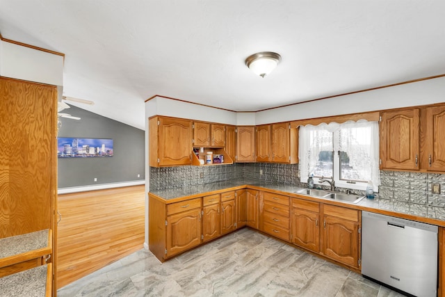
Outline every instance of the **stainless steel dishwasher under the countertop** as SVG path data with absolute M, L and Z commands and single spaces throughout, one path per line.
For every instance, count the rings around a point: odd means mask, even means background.
M 362 211 L 362 274 L 413 296 L 437 296 L 437 230 Z

